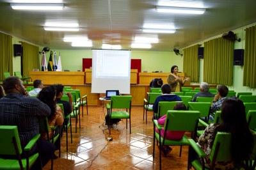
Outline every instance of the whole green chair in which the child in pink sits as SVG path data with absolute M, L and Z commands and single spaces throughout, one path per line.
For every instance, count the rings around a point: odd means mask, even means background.
M 189 138 L 184 135 L 180 140 L 168 140 L 166 139 L 166 130 L 191 132 L 191 139 L 195 139 L 199 116 L 199 111 L 168 111 L 163 127 L 165 132 L 163 137 L 156 132 L 156 128 L 160 132 L 162 126 L 157 123 L 157 120 L 154 120 L 153 158 L 155 156 L 156 140 L 159 143 L 159 148 L 161 146 L 180 146 L 181 156 L 182 146 L 189 145 Z M 161 151 L 159 151 L 159 169 L 161 169 Z

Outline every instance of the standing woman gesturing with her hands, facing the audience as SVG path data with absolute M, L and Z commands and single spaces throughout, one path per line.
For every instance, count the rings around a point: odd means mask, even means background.
M 168 75 L 167 82 L 171 86 L 172 92 L 181 91 L 181 86 L 184 85 L 185 81 L 189 81 L 189 77 L 186 77 L 184 81 L 182 78 L 177 74 L 179 72 L 178 66 L 174 65 L 171 68 L 171 73 Z

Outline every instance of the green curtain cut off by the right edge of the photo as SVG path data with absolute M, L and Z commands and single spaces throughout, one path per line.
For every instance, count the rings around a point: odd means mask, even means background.
M 248 27 L 245 31 L 243 85 L 256 88 L 256 27 Z

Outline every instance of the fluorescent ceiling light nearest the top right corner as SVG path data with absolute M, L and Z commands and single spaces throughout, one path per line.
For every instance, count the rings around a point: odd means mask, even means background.
M 203 14 L 204 8 L 181 8 L 172 6 L 157 6 L 157 12 L 168 12 L 168 13 L 186 13 L 186 14 Z

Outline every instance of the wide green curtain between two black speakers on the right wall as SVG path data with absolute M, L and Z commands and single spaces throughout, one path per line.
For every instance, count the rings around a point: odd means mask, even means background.
M 204 81 L 210 84 L 233 83 L 234 42 L 216 38 L 204 42 Z

